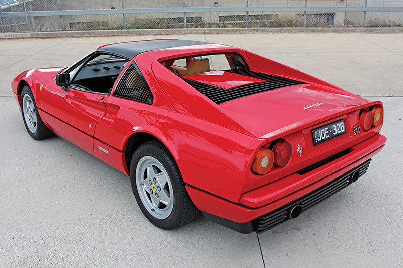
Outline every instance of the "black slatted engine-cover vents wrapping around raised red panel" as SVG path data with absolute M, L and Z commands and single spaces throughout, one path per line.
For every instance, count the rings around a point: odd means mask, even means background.
M 224 102 L 232 101 L 245 96 L 265 91 L 276 90 L 282 87 L 305 84 L 305 82 L 303 81 L 262 72 L 245 71 L 245 70 L 228 70 L 228 72 L 265 80 L 266 82 L 244 85 L 232 88 L 231 90 L 226 90 L 225 88 L 218 87 L 209 83 L 194 81 L 189 78 L 182 78 L 182 79 L 191 86 L 193 86 L 201 94 L 205 95 L 207 98 L 215 102 L 216 104 L 222 104 Z

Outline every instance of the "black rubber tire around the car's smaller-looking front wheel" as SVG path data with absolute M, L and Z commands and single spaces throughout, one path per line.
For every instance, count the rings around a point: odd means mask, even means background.
M 35 123 L 27 122 L 26 116 L 27 117 L 29 117 L 29 116 L 28 116 L 28 114 L 26 114 L 27 108 L 24 107 L 24 105 L 26 105 L 26 104 L 24 104 L 24 99 L 32 102 L 32 105 L 33 105 L 32 112 L 35 113 L 35 115 L 36 115 Z M 45 126 L 41 117 L 39 116 L 38 108 L 36 107 L 36 103 L 35 103 L 35 98 L 34 98 L 34 95 L 32 94 L 31 88 L 29 88 L 29 86 L 23 87 L 23 89 L 21 91 L 20 103 L 21 103 L 22 120 L 24 121 L 25 128 L 27 129 L 27 132 L 31 136 L 31 138 L 33 138 L 34 140 L 43 140 L 43 139 L 53 136 L 53 132 L 50 131 L 50 129 L 48 129 Z

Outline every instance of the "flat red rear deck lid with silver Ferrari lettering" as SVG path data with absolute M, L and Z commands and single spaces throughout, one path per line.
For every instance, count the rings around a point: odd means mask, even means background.
M 223 111 L 256 137 L 298 128 L 309 122 L 351 110 L 358 96 L 326 92 L 313 85 L 295 85 L 220 105 Z

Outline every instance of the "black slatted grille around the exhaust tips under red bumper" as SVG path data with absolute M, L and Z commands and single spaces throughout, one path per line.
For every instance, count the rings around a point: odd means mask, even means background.
M 295 205 L 300 205 L 302 207 L 302 212 L 313 207 L 314 205 L 320 203 L 326 198 L 334 195 L 340 190 L 346 188 L 352 184 L 352 175 L 354 172 L 359 171 L 359 176 L 361 177 L 367 172 L 371 159 L 357 166 L 356 168 L 350 170 L 346 174 L 338 177 L 334 181 L 322 186 L 321 188 L 315 190 L 314 192 L 300 198 L 299 200 L 290 203 L 274 212 L 268 213 L 253 221 L 253 230 L 257 233 L 262 233 L 271 229 L 287 220 L 290 217 L 287 215 L 287 211 L 290 210 Z

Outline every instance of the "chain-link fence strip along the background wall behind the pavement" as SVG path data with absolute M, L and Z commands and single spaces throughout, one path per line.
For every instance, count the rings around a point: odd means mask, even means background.
M 0 6 L 3 32 L 403 26 L 403 0 L 0 0 Z

